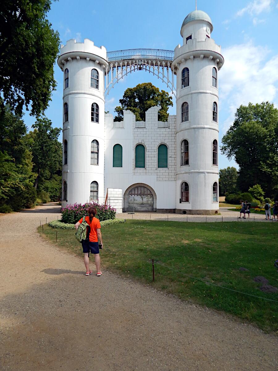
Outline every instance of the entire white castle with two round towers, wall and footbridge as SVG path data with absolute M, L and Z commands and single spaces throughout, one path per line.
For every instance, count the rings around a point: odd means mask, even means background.
M 174 51 L 105 47 L 69 40 L 58 64 L 64 73 L 62 207 L 108 196 L 118 212 L 217 214 L 218 71 L 221 47 L 211 38 L 208 14 L 196 10 L 182 23 Z M 123 76 L 145 70 L 176 98 L 176 115 L 146 121 L 124 111 L 105 114 L 105 95 Z

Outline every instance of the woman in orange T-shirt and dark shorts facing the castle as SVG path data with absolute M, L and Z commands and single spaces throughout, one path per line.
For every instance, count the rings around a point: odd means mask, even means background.
M 83 247 L 83 253 L 84 253 L 84 264 L 86 267 L 86 273 L 85 276 L 89 276 L 93 273 L 92 270 L 90 270 L 90 260 L 89 260 L 89 254 L 95 255 L 95 263 L 96 263 L 96 275 L 101 276 L 102 271 L 100 270 L 100 256 L 99 256 L 99 249 L 103 248 L 102 243 L 102 235 L 100 232 L 100 222 L 99 219 L 97 219 L 96 216 L 96 208 L 95 207 L 89 207 L 88 210 L 88 216 L 82 217 L 77 223 L 75 224 L 75 229 L 77 230 L 80 226 L 80 229 L 82 226 L 84 226 L 84 223 L 87 224 L 87 233 L 86 233 L 86 239 L 82 239 L 82 247 Z M 89 234 L 89 236 L 87 236 Z M 99 242 L 100 243 L 99 243 Z

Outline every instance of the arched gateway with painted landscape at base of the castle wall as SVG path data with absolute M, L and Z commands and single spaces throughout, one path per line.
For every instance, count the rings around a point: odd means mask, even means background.
M 155 191 L 147 184 L 133 184 L 124 193 L 125 211 L 156 211 Z

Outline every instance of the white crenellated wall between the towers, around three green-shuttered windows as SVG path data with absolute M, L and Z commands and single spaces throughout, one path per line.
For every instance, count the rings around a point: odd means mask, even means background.
M 146 122 L 136 122 L 135 115 L 124 111 L 122 122 L 113 122 L 111 114 L 105 115 L 105 189 L 121 188 L 123 196 L 132 185 L 147 185 L 155 192 L 156 209 L 175 209 L 176 205 L 176 118 L 158 121 L 160 107 L 146 112 Z M 142 143 L 146 148 L 146 168 L 135 168 L 135 147 Z M 158 168 L 158 146 L 168 147 L 168 168 Z M 113 167 L 113 146 L 123 147 L 123 167 Z

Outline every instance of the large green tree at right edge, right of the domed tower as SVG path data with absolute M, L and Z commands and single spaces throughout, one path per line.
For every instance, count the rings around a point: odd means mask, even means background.
M 241 190 L 261 184 L 272 197 L 278 183 L 278 109 L 269 102 L 241 105 L 222 143 L 222 154 L 239 165 Z

